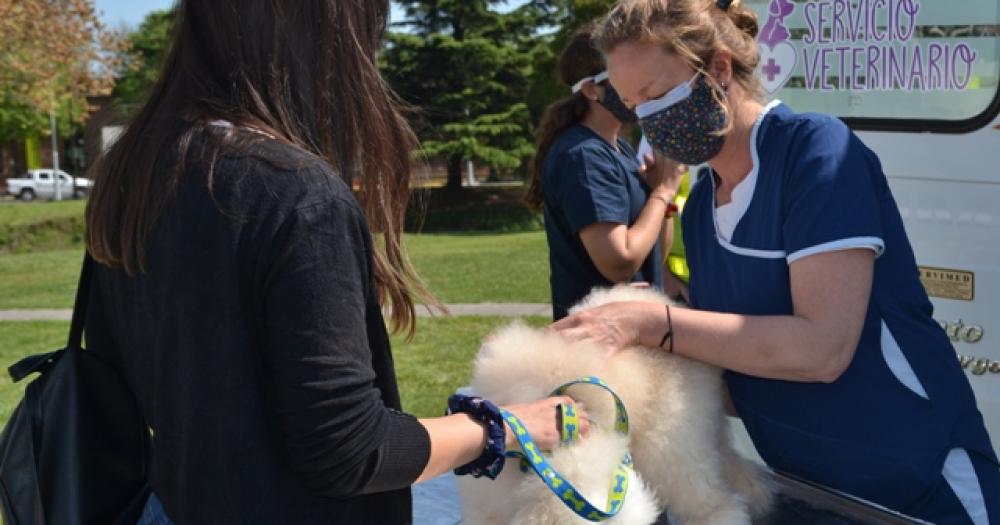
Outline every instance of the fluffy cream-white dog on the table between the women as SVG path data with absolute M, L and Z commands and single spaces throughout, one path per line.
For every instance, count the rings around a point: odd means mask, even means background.
M 615 301 L 667 304 L 663 295 L 620 286 L 596 290 L 572 311 Z M 766 473 L 731 447 L 719 369 L 663 350 L 636 347 L 607 358 L 606 349 L 514 323 L 499 330 L 476 358 L 472 389 L 497 405 L 529 402 L 585 376 L 603 379 L 628 409 L 628 438 L 614 431 L 611 396 L 590 385 L 571 387 L 591 430 L 559 447 L 549 462 L 594 506 L 604 509 L 622 455 L 635 461 L 621 511 L 609 524 L 651 524 L 665 509 L 673 523 L 750 523 L 770 508 Z M 494 481 L 459 480 L 467 525 L 587 523 L 570 511 L 533 471 L 508 460 Z

